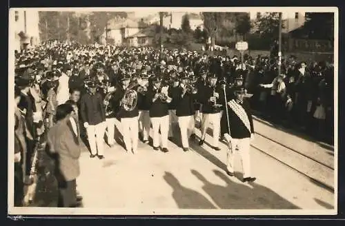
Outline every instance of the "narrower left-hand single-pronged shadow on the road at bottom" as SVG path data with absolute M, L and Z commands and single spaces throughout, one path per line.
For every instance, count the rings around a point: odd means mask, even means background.
M 179 209 L 216 209 L 208 199 L 199 192 L 184 187 L 170 172 L 165 172 L 164 180 L 172 187 L 174 198 Z

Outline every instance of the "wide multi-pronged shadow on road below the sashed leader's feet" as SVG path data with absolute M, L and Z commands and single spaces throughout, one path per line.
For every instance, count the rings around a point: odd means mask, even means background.
M 267 187 L 257 183 L 250 183 L 252 187 L 236 183 L 219 170 L 213 172 L 226 186 L 210 183 L 196 170 L 191 172 L 204 183 L 204 191 L 221 209 L 300 209 Z

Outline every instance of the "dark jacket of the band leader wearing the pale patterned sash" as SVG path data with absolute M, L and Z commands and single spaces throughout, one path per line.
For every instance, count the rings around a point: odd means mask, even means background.
M 250 131 L 244 125 L 242 120 L 239 116 L 230 108 L 228 107 L 228 118 L 229 118 L 229 125 L 230 125 L 230 136 L 232 138 L 249 138 L 250 134 L 254 133 L 254 126 L 253 126 L 253 118 L 250 110 L 250 105 L 247 99 L 244 99 L 243 103 L 241 104 L 246 112 L 246 116 L 248 116 L 248 120 L 250 123 Z M 223 113 L 221 117 L 221 134 L 228 133 L 228 122 L 226 119 L 226 112 Z

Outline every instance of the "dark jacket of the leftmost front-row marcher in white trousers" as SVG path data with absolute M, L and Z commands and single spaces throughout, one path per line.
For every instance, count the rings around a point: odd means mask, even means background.
M 106 114 L 104 112 L 101 94 L 86 93 L 81 96 L 80 114 L 83 122 L 86 122 L 89 125 L 97 125 L 106 121 Z

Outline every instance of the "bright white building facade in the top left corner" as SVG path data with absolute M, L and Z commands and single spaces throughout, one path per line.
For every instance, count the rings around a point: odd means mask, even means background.
M 15 9 L 10 13 L 14 28 L 13 45 L 15 50 L 23 50 L 38 45 L 39 40 L 39 11 Z

